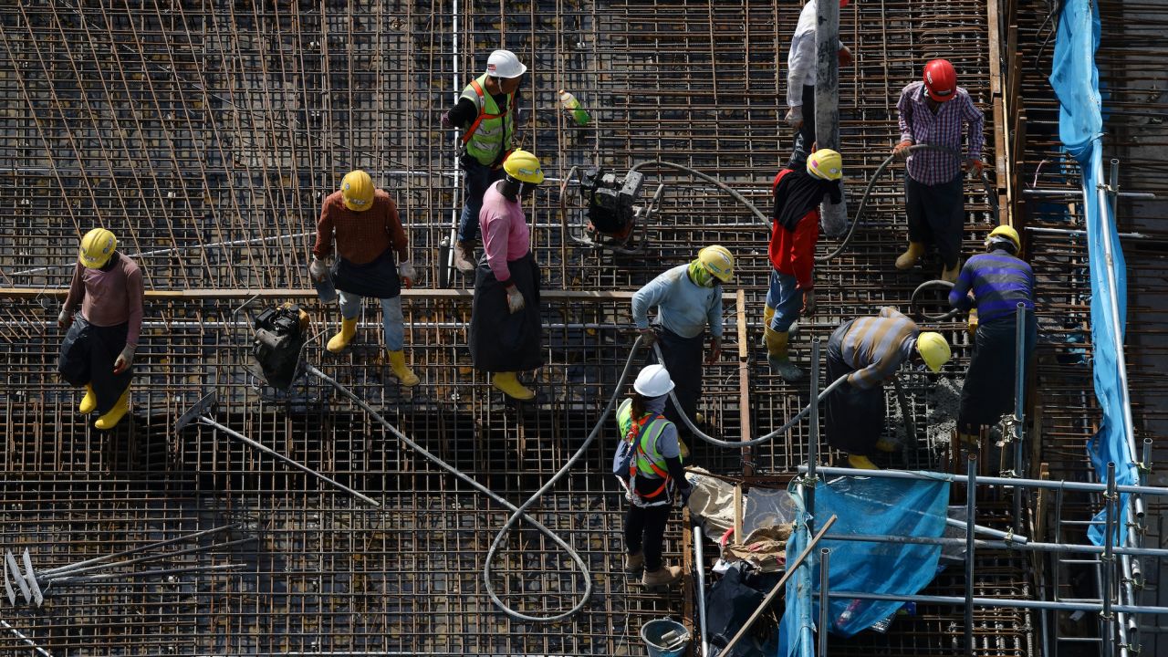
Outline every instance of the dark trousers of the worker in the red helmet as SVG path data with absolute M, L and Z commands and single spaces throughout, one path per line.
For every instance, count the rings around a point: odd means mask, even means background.
M 925 185 L 905 175 L 904 199 L 909 215 L 909 241 L 937 244 L 937 254 L 945 268 L 957 267 L 961 256 L 961 233 L 965 230 L 961 173 L 953 180 L 938 185 Z

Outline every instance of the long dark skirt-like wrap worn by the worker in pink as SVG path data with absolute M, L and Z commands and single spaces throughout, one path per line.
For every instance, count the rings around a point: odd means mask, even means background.
M 471 305 L 471 364 L 480 372 L 520 372 L 543 365 L 540 320 L 540 265 L 530 253 L 507 262 L 512 281 L 523 295 L 523 310 L 507 307 L 507 289 L 479 260 Z

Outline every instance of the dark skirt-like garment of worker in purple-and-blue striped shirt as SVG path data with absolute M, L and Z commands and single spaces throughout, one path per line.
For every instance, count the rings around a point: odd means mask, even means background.
M 969 372 L 961 386 L 961 409 L 958 422 L 962 429 L 996 424 L 1002 415 L 1014 413 L 1015 364 L 1017 362 L 1017 326 L 1013 317 L 978 326 L 973 339 Z M 1026 367 L 1030 367 L 1038 337 L 1038 320 L 1027 313 Z M 1026 378 L 1022 379 L 1023 383 Z

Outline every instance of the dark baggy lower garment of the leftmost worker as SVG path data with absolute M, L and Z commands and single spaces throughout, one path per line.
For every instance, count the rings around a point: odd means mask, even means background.
M 95 326 L 78 314 L 61 343 L 57 372 L 72 386 L 92 383 L 97 412 L 103 415 L 113 408 L 121 393 L 130 387 L 133 367 L 121 374 L 113 373 L 113 361 L 126 347 L 128 330 L 128 323 Z

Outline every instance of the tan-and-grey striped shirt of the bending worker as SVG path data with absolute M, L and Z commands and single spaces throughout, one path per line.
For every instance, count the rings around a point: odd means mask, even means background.
M 880 386 L 912 357 L 918 332 L 915 321 L 895 307 L 884 306 L 880 317 L 844 321 L 832 333 L 827 348 L 855 369 L 848 374 L 848 383 L 868 390 Z

